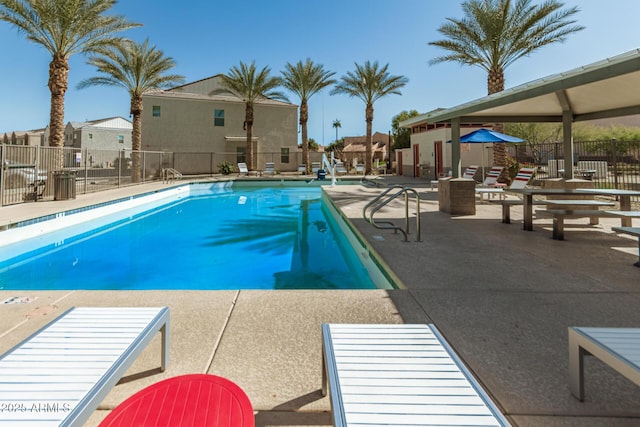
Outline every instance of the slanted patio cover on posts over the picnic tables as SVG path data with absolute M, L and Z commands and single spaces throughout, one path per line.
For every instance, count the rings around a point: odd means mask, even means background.
M 460 176 L 460 124 L 505 122 L 563 123 L 564 158 L 573 158 L 573 122 L 640 114 L 640 49 L 554 74 L 453 108 L 439 109 L 405 120 L 450 123 L 452 167 Z M 573 176 L 573 164 L 565 165 Z

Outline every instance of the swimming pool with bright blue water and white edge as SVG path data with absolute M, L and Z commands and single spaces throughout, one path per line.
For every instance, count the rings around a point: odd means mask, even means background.
M 190 184 L 3 231 L 0 289 L 392 285 L 318 186 Z

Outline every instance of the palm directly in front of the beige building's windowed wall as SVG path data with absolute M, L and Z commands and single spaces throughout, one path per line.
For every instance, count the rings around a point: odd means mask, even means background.
M 282 85 L 282 79 L 270 76 L 271 70 L 264 67 L 258 71 L 254 61 L 247 65 L 240 61 L 239 66 L 231 67 L 229 74 L 221 76 L 221 89 L 214 90 L 216 93 L 231 93 L 241 98 L 245 105 L 244 129 L 247 131 L 247 159 L 249 170 L 255 170 L 253 159 L 253 104 L 262 99 L 287 100 L 287 97 L 276 90 Z

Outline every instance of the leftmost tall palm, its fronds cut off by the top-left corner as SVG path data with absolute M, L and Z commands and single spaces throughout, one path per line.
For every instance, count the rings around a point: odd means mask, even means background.
M 115 33 L 140 26 L 119 15 L 105 15 L 116 0 L 0 0 L 0 20 L 12 24 L 29 41 L 52 56 L 49 63 L 49 117 L 52 147 L 64 145 L 64 97 L 69 58 L 119 42 Z

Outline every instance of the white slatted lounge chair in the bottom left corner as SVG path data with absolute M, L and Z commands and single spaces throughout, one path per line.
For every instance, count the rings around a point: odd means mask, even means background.
M 169 308 L 72 308 L 0 358 L 0 401 L 46 410 L 0 414 L 0 426 L 81 426 L 157 332 L 169 359 Z

